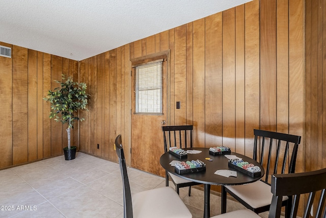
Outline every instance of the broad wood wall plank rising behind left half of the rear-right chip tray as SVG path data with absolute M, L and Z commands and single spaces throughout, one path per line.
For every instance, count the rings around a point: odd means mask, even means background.
M 222 144 L 222 13 L 205 19 L 205 144 Z M 191 49 L 191 48 L 189 48 Z

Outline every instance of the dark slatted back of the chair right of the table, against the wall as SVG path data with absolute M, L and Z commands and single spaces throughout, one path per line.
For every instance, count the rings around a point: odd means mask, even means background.
M 268 179 L 273 174 L 294 173 L 301 136 L 257 129 L 254 135 L 253 159 L 265 169 L 264 182 L 270 184 Z

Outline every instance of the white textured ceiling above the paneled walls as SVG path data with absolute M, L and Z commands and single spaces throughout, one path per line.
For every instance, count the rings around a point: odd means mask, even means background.
M 252 0 L 0 0 L 0 41 L 73 60 Z

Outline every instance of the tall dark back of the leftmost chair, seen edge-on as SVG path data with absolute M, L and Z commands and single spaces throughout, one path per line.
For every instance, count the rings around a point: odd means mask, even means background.
M 125 218 L 132 218 L 132 200 L 131 200 L 131 191 L 130 184 L 127 174 L 127 164 L 124 157 L 123 148 L 122 148 L 122 139 L 121 135 L 118 135 L 116 138 L 116 152 L 119 158 L 120 171 L 122 176 L 123 184 L 123 214 Z

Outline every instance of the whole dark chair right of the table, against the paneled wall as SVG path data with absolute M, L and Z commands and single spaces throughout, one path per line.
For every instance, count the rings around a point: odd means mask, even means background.
M 278 173 L 294 173 L 295 171 L 301 136 L 256 129 L 254 135 L 253 159 L 264 167 L 265 176 L 249 184 L 222 186 L 222 213 L 226 212 L 227 193 L 257 214 L 268 211 L 273 197 L 270 192 L 270 176 Z M 282 205 L 286 208 L 286 215 L 290 209 L 290 203 L 291 197 L 284 196 Z

